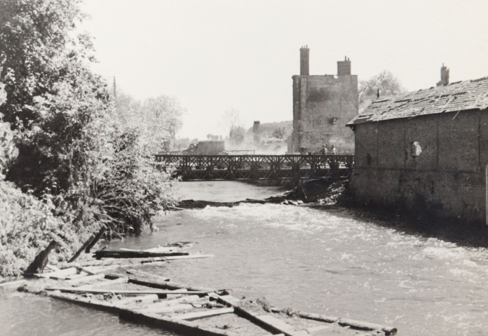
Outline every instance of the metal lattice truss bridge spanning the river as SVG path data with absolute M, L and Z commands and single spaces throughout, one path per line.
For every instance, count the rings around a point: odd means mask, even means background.
M 157 154 L 183 181 L 345 179 L 354 155 L 202 155 Z

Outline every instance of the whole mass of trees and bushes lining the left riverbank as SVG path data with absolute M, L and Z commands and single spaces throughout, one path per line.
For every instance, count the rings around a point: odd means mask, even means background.
M 52 239 L 68 255 L 101 225 L 110 236 L 141 232 L 175 201 L 170 172 L 151 155 L 169 146 L 182 109 L 166 96 L 127 99 L 127 116 L 142 111 L 145 127 L 120 122 L 105 82 L 89 70 L 90 39 L 72 33 L 83 18 L 78 3 L 0 2 L 8 93 L 0 113 L 11 122 L 0 122 L 0 171 L 12 182 L 0 178 L 0 275 L 19 274 Z

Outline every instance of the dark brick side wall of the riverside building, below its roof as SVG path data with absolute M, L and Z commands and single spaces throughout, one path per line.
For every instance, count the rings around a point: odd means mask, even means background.
M 357 199 L 397 210 L 484 222 L 487 112 L 356 125 L 356 167 L 350 186 Z M 414 153 L 418 147 L 421 152 Z

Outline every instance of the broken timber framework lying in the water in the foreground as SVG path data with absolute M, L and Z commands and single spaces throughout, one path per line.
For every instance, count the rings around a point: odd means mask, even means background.
M 354 329 L 376 330 L 384 335 L 396 332 L 389 326 L 319 314 L 294 312 L 292 317 L 284 310 L 265 310 L 256 302 L 240 300 L 227 291 L 178 284 L 137 270 L 107 273 L 106 267 L 84 268 L 43 274 L 48 279 L 44 287 L 47 295 L 116 313 L 121 319 L 190 335 L 310 336 L 322 330 L 327 334 L 356 335 Z M 74 275 L 78 277 L 67 280 Z

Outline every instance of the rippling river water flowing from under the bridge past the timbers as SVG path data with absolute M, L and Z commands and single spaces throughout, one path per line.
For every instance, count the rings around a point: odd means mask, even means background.
M 280 192 L 237 182 L 182 183 L 185 198 L 234 201 Z M 152 234 L 110 242 L 149 248 L 197 242 L 213 258 L 146 272 L 265 297 L 277 307 L 384 323 L 399 335 L 488 334 L 488 251 L 388 226 L 341 207 L 242 204 L 170 212 Z M 53 299 L 0 290 L 0 325 L 12 335 L 170 335 Z

